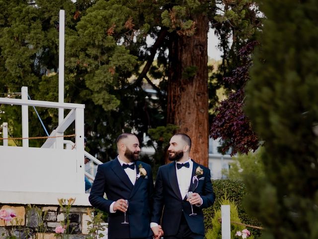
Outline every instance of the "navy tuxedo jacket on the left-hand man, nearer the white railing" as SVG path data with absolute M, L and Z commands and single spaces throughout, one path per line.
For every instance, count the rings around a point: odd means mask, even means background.
M 95 180 L 90 190 L 90 204 L 108 213 L 108 238 L 147 238 L 152 236 L 150 217 L 152 211 L 152 197 L 154 181 L 149 164 L 136 161 L 137 174 L 139 165 L 146 169 L 146 177 L 140 176 L 135 185 L 120 165 L 118 159 L 98 165 Z M 136 175 L 137 176 L 137 175 Z M 107 199 L 104 199 L 106 193 Z M 129 202 L 124 222 L 124 213 L 117 211 L 110 213 L 109 207 L 118 199 L 127 199 Z

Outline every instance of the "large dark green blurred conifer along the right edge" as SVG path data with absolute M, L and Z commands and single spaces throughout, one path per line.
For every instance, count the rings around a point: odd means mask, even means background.
M 265 239 L 314 239 L 318 5 L 314 0 L 261 3 L 266 19 L 246 88 L 246 112 L 265 141 L 265 176 L 250 178 L 248 209 L 267 228 Z

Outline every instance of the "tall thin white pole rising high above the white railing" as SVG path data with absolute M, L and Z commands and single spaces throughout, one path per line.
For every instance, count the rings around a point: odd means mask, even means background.
M 64 35 L 65 35 L 65 11 L 60 10 L 59 22 L 59 103 L 64 103 Z M 59 108 L 59 124 L 64 119 L 64 109 Z M 57 135 L 63 135 L 58 133 Z M 63 148 L 63 137 L 57 138 L 57 148 Z

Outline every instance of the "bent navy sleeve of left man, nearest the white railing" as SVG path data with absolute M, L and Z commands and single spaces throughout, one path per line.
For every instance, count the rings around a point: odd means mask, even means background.
M 109 209 L 113 201 L 104 199 L 105 186 L 107 182 L 104 170 L 101 166 L 102 164 L 97 167 L 96 176 L 90 189 L 88 200 L 94 208 L 110 213 Z

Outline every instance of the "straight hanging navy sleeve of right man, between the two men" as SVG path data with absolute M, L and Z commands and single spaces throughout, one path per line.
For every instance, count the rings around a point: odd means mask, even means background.
M 162 170 L 159 168 L 155 183 L 153 212 L 151 217 L 152 223 L 160 224 L 160 218 L 163 209 L 163 186 L 162 186 Z

